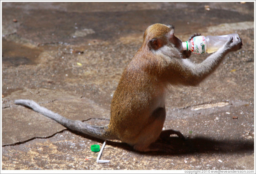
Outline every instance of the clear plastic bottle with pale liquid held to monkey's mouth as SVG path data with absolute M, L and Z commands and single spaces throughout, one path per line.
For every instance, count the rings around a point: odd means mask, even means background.
M 213 53 L 221 48 L 233 36 L 233 41 L 238 40 L 238 34 L 228 34 L 222 36 L 196 36 L 189 42 L 183 42 L 183 50 L 190 50 L 195 54 Z

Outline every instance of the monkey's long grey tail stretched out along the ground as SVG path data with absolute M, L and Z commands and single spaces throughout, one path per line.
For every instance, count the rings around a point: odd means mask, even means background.
M 108 132 L 108 126 L 94 126 L 86 124 L 80 120 L 71 120 L 65 117 L 62 117 L 58 113 L 54 113 L 45 107 L 38 105 L 36 102 L 32 100 L 15 100 L 14 102 L 17 105 L 23 105 L 32 108 L 34 111 L 43 114 L 50 119 L 55 120 L 66 128 L 78 131 L 79 133 L 90 135 L 96 138 L 100 138 L 103 140 L 107 139 L 117 139 L 111 133 Z

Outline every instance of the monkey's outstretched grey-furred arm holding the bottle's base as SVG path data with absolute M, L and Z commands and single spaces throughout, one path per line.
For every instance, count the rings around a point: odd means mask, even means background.
M 242 39 L 238 38 L 238 41 L 233 42 L 233 37 L 224 44 L 224 46 L 200 64 L 195 64 L 188 59 L 182 59 L 181 65 L 181 83 L 185 85 L 198 85 L 208 75 L 210 75 L 224 59 L 224 56 L 231 51 L 241 49 Z

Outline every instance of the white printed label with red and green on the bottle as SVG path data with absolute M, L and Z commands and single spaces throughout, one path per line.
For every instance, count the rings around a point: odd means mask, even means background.
M 196 36 L 191 39 L 192 48 L 191 51 L 195 54 L 205 53 L 205 37 Z

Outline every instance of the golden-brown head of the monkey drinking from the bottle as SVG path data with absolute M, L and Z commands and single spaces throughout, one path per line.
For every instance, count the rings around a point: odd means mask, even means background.
M 148 26 L 143 36 L 143 44 L 150 50 L 158 50 L 163 46 L 175 47 L 180 53 L 183 52 L 182 41 L 174 36 L 174 26 L 153 24 Z

